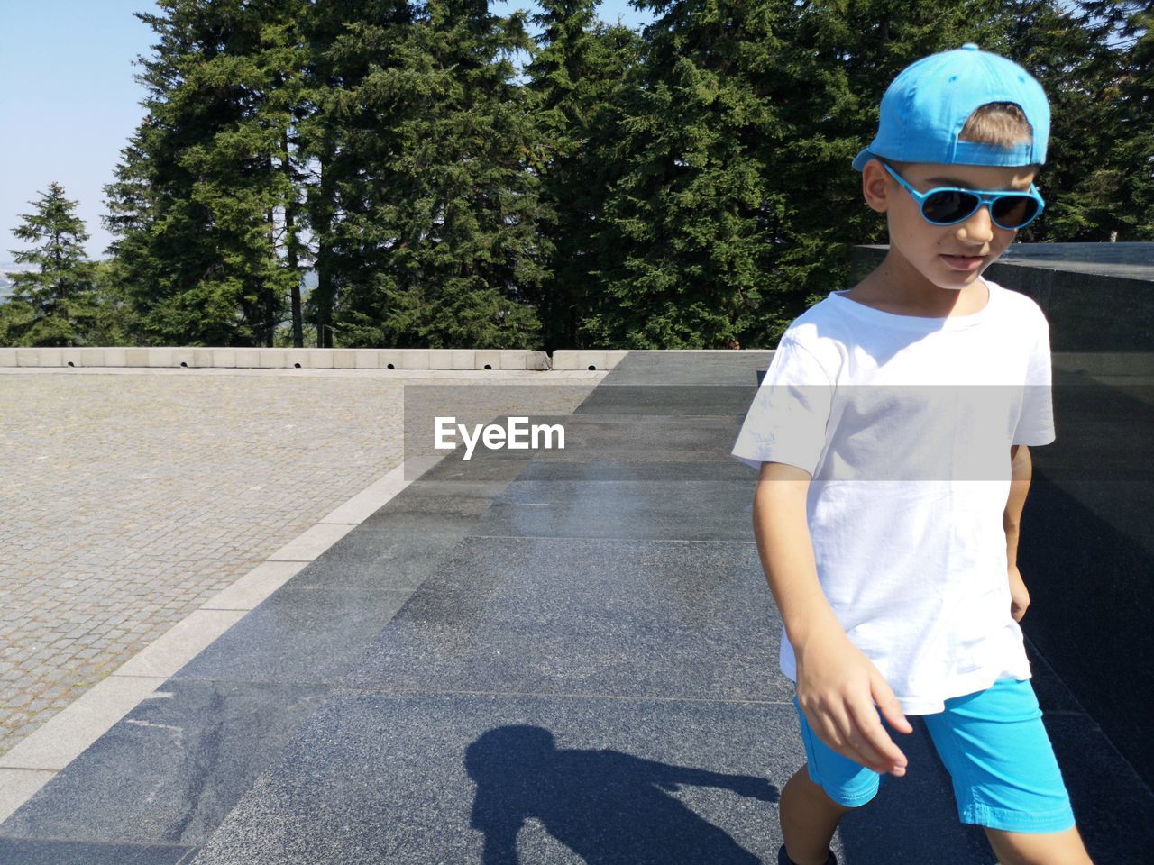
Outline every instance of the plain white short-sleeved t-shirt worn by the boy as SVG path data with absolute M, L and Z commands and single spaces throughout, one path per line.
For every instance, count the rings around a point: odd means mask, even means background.
M 1010 446 L 1054 441 L 1049 325 L 983 279 L 972 315 L 926 318 L 831 292 L 789 325 L 733 447 L 812 475 L 822 591 L 902 712 L 1031 678 L 1010 615 Z M 797 680 L 782 631 L 781 671 Z

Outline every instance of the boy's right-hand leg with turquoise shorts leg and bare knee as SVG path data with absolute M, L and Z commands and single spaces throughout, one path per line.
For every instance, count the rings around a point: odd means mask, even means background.
M 924 719 L 958 817 L 986 830 L 999 865 L 1091 865 L 1029 679 L 998 679 Z

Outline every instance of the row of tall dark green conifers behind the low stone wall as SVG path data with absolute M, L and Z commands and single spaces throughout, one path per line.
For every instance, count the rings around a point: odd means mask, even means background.
M 1154 2 L 632 5 L 158 0 L 108 257 L 51 183 L 0 345 L 772 347 L 886 242 L 885 86 L 966 42 L 1050 97 L 1019 240 L 1154 240 Z

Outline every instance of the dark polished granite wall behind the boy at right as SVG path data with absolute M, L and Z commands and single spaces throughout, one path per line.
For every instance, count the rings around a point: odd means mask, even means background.
M 849 285 L 885 251 L 856 247 Z M 1154 785 L 1154 243 L 1014 245 L 986 273 L 1037 301 L 1054 353 L 1057 439 L 1031 449 L 1021 627 Z

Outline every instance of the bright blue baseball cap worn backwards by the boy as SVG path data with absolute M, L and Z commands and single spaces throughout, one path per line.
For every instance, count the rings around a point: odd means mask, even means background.
M 1012 148 L 958 141 L 974 108 L 987 103 L 1014 103 L 1033 128 L 1033 141 Z M 898 73 L 882 97 L 877 135 L 854 157 L 854 170 L 876 157 L 946 165 L 1041 165 L 1049 138 L 1050 103 L 1042 85 L 1013 60 L 967 42 Z

